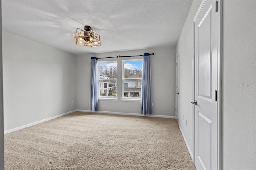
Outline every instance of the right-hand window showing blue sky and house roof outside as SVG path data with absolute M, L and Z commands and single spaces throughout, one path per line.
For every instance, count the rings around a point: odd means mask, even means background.
M 143 59 L 122 61 L 122 98 L 141 99 Z

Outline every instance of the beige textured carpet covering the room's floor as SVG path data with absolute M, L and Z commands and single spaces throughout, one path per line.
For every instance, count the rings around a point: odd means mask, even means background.
M 72 113 L 5 137 L 6 170 L 195 170 L 175 119 Z

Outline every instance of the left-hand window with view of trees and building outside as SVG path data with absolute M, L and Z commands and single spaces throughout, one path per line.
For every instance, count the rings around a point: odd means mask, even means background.
M 117 98 L 117 61 L 98 62 L 99 98 Z M 104 83 L 104 87 L 101 86 Z

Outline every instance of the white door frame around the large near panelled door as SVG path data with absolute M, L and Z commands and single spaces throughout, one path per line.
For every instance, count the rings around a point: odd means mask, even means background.
M 193 19 L 193 100 L 195 100 L 195 22 L 206 4 L 207 0 L 202 0 L 198 11 Z M 222 4 L 223 0 L 218 0 L 218 94 L 217 94 L 217 115 L 218 115 L 218 170 L 222 170 Z M 193 104 L 193 162 L 195 163 L 195 106 Z

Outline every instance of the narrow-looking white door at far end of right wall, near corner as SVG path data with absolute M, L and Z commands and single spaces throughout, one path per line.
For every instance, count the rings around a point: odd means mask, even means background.
M 180 50 L 176 54 L 176 81 L 175 81 L 175 91 L 176 91 L 176 98 L 175 98 L 175 117 L 180 125 Z

